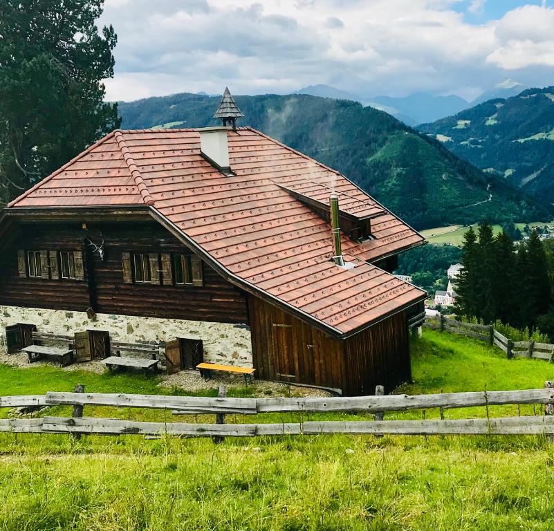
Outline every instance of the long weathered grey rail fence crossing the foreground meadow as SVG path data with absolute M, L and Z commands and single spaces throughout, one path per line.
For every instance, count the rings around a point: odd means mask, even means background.
M 221 395 L 225 393 L 220 391 Z M 489 407 L 506 404 L 545 404 L 545 416 L 503 418 L 467 418 L 460 420 L 382 420 L 386 411 L 412 409 Z M 168 434 L 181 437 L 223 437 L 315 435 L 315 434 L 498 434 L 554 435 L 554 384 L 546 382 L 544 389 L 523 391 L 477 391 L 429 395 L 373 395 L 338 398 L 218 398 L 165 395 L 126 395 L 84 393 L 82 386 L 75 393 L 46 393 L 32 396 L 0 397 L 0 407 L 41 408 L 54 405 L 73 406 L 72 417 L 3 418 L 0 431 L 35 434 L 143 435 Z M 138 422 L 114 418 L 82 417 L 89 406 L 137 407 L 170 410 L 175 415 L 215 413 L 217 421 Z M 243 413 L 374 413 L 378 420 L 312 421 L 225 424 L 225 414 Z M 302 416 L 301 416 L 302 417 Z

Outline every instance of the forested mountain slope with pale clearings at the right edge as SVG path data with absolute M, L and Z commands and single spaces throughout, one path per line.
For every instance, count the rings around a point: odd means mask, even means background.
M 554 86 L 490 100 L 420 129 L 506 183 L 554 202 Z

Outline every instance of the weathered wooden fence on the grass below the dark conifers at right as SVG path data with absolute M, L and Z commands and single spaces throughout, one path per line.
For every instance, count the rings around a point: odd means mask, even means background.
M 533 340 L 513 341 L 502 335 L 492 324 L 464 323 L 439 313 L 438 315 L 427 315 L 423 326 L 432 330 L 447 330 L 447 332 L 481 339 L 481 341 L 486 341 L 491 345 L 494 344 L 506 353 L 508 359 L 519 356 L 554 362 L 554 344 L 535 343 Z

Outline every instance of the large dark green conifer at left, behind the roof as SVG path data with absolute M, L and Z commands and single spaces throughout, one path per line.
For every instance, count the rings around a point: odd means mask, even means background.
M 104 0 L 0 1 L 0 201 L 119 127 L 103 103 L 117 37 Z

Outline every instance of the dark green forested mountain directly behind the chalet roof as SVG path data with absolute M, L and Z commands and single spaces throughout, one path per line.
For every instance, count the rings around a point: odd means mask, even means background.
M 181 93 L 119 104 L 122 127 L 205 127 L 219 97 Z M 391 115 L 310 95 L 235 97 L 248 125 L 348 176 L 418 229 L 535 221 L 546 209 Z

